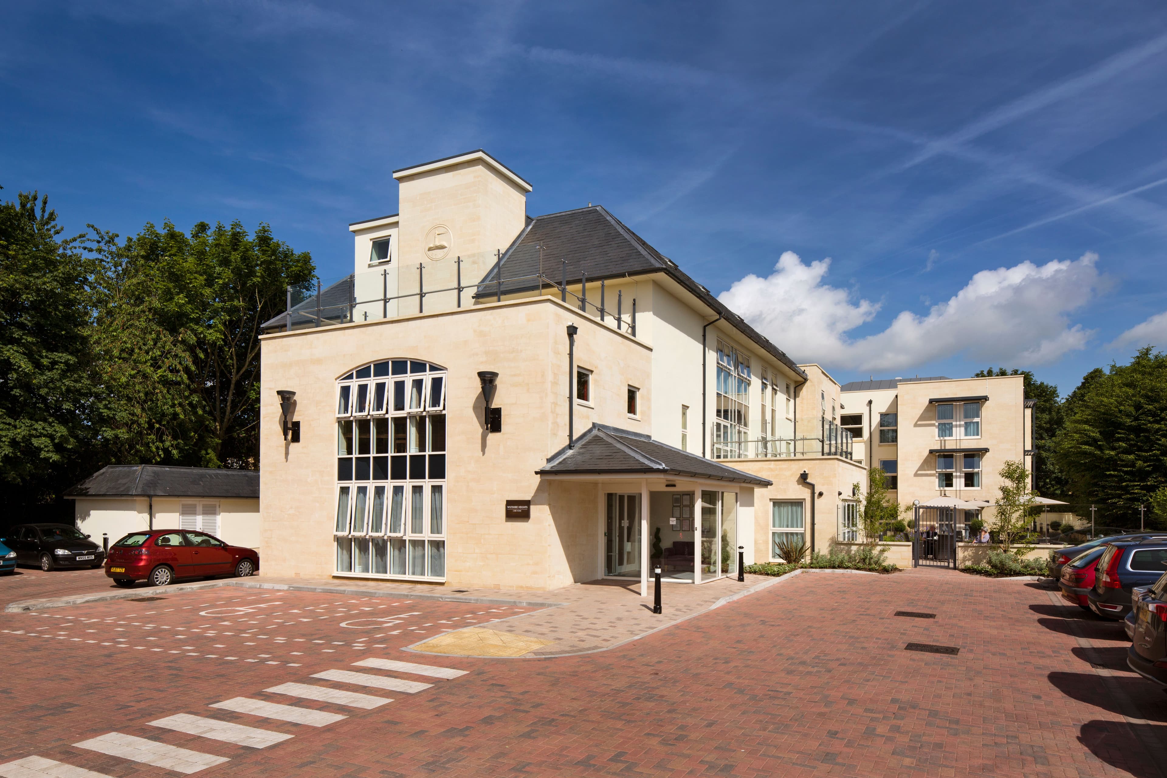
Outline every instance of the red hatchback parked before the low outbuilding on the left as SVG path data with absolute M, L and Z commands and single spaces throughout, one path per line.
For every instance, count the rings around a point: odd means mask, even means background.
M 165 587 L 176 579 L 246 577 L 258 569 L 259 552 L 189 530 L 132 532 L 110 546 L 105 558 L 105 574 L 119 587 L 135 581 Z

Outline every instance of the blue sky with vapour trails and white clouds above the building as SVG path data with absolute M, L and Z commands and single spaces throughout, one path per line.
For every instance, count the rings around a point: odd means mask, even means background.
M 485 148 L 840 380 L 1167 348 L 1161 2 L 11 5 L 0 184 L 70 231 L 259 222 L 324 278 Z M 830 261 L 824 261 L 830 258 Z M 1155 318 L 1159 316 L 1159 318 Z

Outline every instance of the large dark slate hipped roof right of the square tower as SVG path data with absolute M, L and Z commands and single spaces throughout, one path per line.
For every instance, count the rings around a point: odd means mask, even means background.
M 538 288 L 539 281 L 533 278 L 522 281 L 508 281 L 506 279 L 538 274 L 540 245 L 544 246 L 543 275 L 557 283 L 562 280 L 562 260 L 567 260 L 568 283 L 579 283 L 585 273 L 587 273 L 588 281 L 592 282 L 663 272 L 706 306 L 721 314 L 729 324 L 761 346 L 762 350 L 790 367 L 796 376 L 806 378 L 806 373 L 782 349 L 746 323 L 745 318 L 721 304 L 708 289 L 683 272 L 677 262 L 650 246 L 648 241 L 629 230 L 602 205 L 547 213 L 531 219 L 506 248 L 499 261 L 482 278 L 481 283 L 489 285 L 491 281 L 497 281 L 501 269 L 503 294 Z M 497 294 L 498 290 L 495 286 L 480 286 L 474 296 L 489 299 Z M 599 288 L 595 288 L 593 294 L 595 294 L 594 302 L 599 303 Z M 616 301 L 606 300 L 605 307 L 615 310 Z M 624 304 L 626 315 L 630 310 L 631 301 L 629 300 Z

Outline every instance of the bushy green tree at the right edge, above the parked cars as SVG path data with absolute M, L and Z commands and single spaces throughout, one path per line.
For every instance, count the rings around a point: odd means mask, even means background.
M 1151 346 L 1130 364 L 1091 371 L 1064 404 L 1056 442 L 1078 503 L 1107 524 L 1139 526 L 1139 505 L 1167 485 L 1167 356 Z

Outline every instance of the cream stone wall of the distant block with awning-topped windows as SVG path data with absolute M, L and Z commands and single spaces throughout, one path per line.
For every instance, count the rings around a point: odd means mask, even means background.
M 987 395 L 981 404 L 979 439 L 936 437 L 936 406 L 930 398 Z M 941 495 L 936 485 L 936 455 L 934 448 L 987 448 L 981 455 L 980 488 L 966 489 L 960 478 L 956 488 L 945 490 L 950 497 L 965 500 L 997 499 L 1000 477 L 997 475 L 1007 460 L 1025 457 L 1025 379 L 1021 376 L 993 378 L 964 378 L 942 381 L 911 381 L 899 387 L 900 483 L 896 493 L 901 504 L 929 500 Z M 1027 462 L 1028 465 L 1028 462 Z M 986 509 L 986 518 L 992 509 Z

